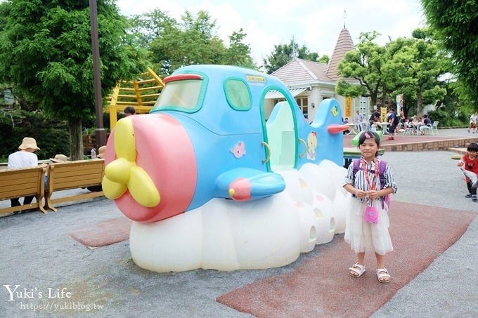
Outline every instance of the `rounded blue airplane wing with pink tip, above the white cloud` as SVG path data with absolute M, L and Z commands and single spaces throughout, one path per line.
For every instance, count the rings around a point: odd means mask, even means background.
M 234 168 L 219 175 L 216 180 L 217 197 L 234 201 L 252 201 L 282 192 L 282 175 L 252 168 Z

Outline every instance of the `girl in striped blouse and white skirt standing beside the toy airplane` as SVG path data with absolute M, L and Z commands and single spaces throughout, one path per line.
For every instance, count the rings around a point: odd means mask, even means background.
M 359 138 L 360 168 L 354 173 L 354 164 L 351 164 L 347 171 L 344 189 L 353 195 L 354 201 L 347 213 L 345 241 L 357 254 L 357 263 L 349 268 L 352 277 L 361 277 L 365 272 L 365 252 L 371 250 L 375 251 L 377 258 L 378 281 L 388 283 L 390 275 L 385 268 L 385 253 L 393 251 L 393 246 L 388 232 L 388 204 L 385 197 L 395 193 L 397 187 L 389 164 L 385 165 L 382 176 L 384 184 L 380 184 L 379 146 L 380 137 L 377 133 L 363 133 Z

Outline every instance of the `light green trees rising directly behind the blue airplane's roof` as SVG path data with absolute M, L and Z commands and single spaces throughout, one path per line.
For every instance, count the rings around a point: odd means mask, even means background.
M 175 69 L 194 64 L 227 64 L 257 68 L 250 55 L 250 46 L 243 41 L 247 34 L 243 29 L 229 37 L 229 47 L 216 34 L 216 20 L 207 11 L 197 14 L 186 11 L 181 21 L 170 18 L 168 13 L 155 9 L 142 15 L 134 15 L 130 32 L 137 44 L 148 51 L 148 60 L 161 76 Z

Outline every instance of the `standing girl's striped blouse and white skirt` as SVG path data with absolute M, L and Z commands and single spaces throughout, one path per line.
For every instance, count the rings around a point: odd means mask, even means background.
M 361 159 L 359 159 L 361 160 Z M 366 161 L 365 161 L 366 162 Z M 377 164 L 379 164 L 378 159 Z M 375 175 L 375 162 L 370 164 L 366 163 L 366 171 L 356 172 L 354 177 L 354 164 L 350 164 L 345 177 L 345 184 L 354 185 L 354 187 L 368 191 L 370 184 L 373 184 L 375 180 L 375 189 L 381 189 L 380 176 Z M 368 180 L 366 181 L 364 173 L 368 173 Z M 394 182 L 394 174 L 392 168 L 387 164 L 385 168 L 385 187 L 392 187 L 394 193 L 397 190 Z M 366 251 L 375 251 L 380 255 L 385 255 L 387 252 L 394 250 L 392 246 L 392 239 L 389 234 L 389 216 L 388 206 L 385 202 L 382 204 L 382 199 L 376 199 L 371 201 L 371 204 L 379 211 L 379 223 L 366 223 L 364 221 L 364 211 L 367 205 L 370 204 L 370 198 L 359 199 L 354 197 L 351 204 L 351 208 L 347 212 L 346 227 L 345 227 L 345 241 L 350 244 L 350 248 L 355 253 L 361 253 Z

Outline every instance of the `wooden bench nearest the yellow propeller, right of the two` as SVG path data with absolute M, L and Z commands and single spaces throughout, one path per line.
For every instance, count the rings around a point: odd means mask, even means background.
M 50 164 L 45 208 L 57 211 L 54 204 L 103 196 L 103 191 L 89 192 L 86 187 L 101 185 L 105 173 L 105 160 L 78 160 Z M 59 191 L 85 188 L 85 193 L 52 198 Z

